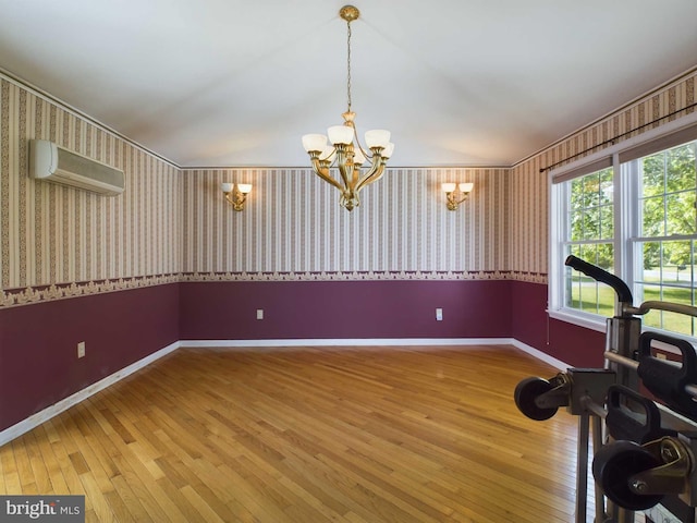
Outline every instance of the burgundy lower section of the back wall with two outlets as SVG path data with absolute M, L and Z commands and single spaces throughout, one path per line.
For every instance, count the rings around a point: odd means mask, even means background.
M 510 281 L 186 282 L 180 333 L 182 340 L 510 338 Z

